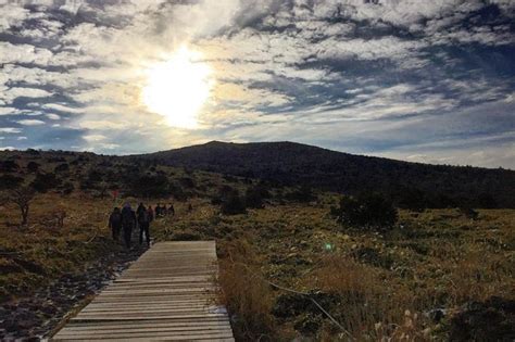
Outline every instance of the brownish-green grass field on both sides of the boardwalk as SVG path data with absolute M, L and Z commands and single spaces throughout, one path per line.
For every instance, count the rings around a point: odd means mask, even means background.
M 480 210 L 477 219 L 457 210 L 401 211 L 394 229 L 378 233 L 337 224 L 329 214 L 337 200 L 321 194 L 311 204 L 273 203 L 223 216 L 208 199 L 193 198 L 175 203 L 177 215 L 156 220 L 151 231 L 155 240 L 217 240 L 219 299 L 242 341 L 448 339 L 460 337 L 464 305 L 515 299 L 515 211 Z M 121 250 L 106 228 L 113 204 L 86 194 L 40 194 L 24 228 L 14 207 L 1 207 L 2 299 L 30 295 Z M 307 296 L 269 282 L 310 293 L 341 327 Z M 513 321 L 513 313 L 504 314 L 487 324 Z M 478 329 L 468 330 L 480 337 Z

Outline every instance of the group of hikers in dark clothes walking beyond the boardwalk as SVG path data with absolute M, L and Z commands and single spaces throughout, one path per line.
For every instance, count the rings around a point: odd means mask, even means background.
M 130 206 L 130 203 L 125 203 L 122 210 L 114 207 L 109 216 L 109 228 L 111 228 L 113 240 L 117 241 L 120 233 L 123 231 L 125 246 L 130 249 L 133 240 L 133 230 L 139 227 L 139 244 L 143 243 L 143 233 L 147 240 L 147 245 L 150 246 L 150 224 L 154 218 L 164 216 L 174 216 L 175 208 L 173 204 L 161 205 L 159 203 L 155 208 L 152 206 L 146 207 L 143 203 L 139 203 L 136 212 Z

